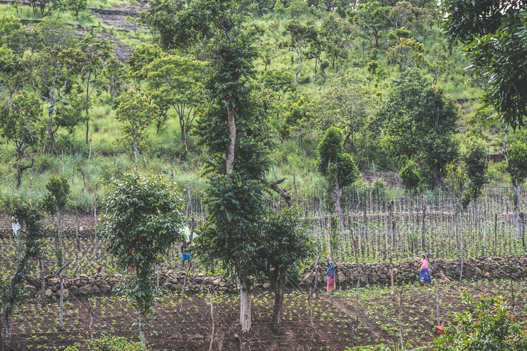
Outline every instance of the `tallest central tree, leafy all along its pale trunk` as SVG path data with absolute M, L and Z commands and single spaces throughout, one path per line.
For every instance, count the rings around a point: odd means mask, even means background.
M 259 95 L 251 84 L 257 57 L 253 31 L 242 24 L 235 2 L 193 0 L 178 12 L 172 36 L 164 48 L 193 43 L 210 62 L 207 83 L 211 101 L 200 117 L 196 134 L 211 155 L 207 191 L 209 221 L 200 236 L 207 255 L 221 257 L 235 267 L 240 281 L 240 324 L 251 328 L 251 282 L 257 273 L 253 251 L 259 240 L 258 223 L 264 214 L 269 167 L 266 123 Z M 154 33 L 161 31 L 153 27 Z M 199 42 L 196 39 L 201 39 Z

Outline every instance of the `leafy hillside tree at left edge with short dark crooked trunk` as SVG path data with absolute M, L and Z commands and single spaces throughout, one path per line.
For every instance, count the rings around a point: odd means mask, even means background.
M 26 161 L 27 149 L 37 145 L 43 132 L 42 105 L 35 95 L 23 91 L 0 103 L 0 135 L 15 144 L 17 189 L 22 185 L 22 172 L 33 167 L 33 157 Z

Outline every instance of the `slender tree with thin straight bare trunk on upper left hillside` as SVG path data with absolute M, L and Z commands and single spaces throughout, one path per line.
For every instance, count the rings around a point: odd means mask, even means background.
M 113 45 L 108 39 L 99 38 L 99 32 L 98 29 L 90 28 L 90 32 L 77 44 L 83 54 L 81 77 L 86 84 L 86 144 L 90 134 L 90 96 L 100 85 L 99 76 L 113 51 Z

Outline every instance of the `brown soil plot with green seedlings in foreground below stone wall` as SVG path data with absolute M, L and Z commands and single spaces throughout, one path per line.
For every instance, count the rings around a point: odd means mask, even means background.
M 466 306 L 460 292 L 501 294 L 509 299 L 509 308 L 516 320 L 527 321 L 527 282 L 497 280 L 442 284 L 440 288 L 440 320 L 450 325 L 453 312 Z M 401 293 L 402 292 L 402 293 Z M 514 303 L 512 293 L 514 292 Z M 405 347 L 431 349 L 437 322 L 436 292 L 418 284 L 391 289 L 368 286 L 359 288 L 358 324 L 355 289 L 338 290 L 333 295 L 317 292 L 309 298 L 301 288 L 289 290 L 284 300 L 284 334 L 271 328 L 272 294 L 266 290 L 253 296 L 253 329 L 238 331 L 238 296 L 206 292 L 185 296 L 158 295 L 147 337 L 149 349 L 209 349 L 212 317 L 214 318 L 215 350 L 296 349 L 345 350 L 354 345 L 398 344 Z M 65 329 L 58 329 L 58 307 L 27 303 L 17 309 L 13 342 L 16 349 L 63 349 L 75 342 L 102 334 L 120 335 L 138 340 L 134 325 L 135 310 L 119 295 L 73 298 L 65 305 Z M 236 338 L 238 334 L 240 338 Z

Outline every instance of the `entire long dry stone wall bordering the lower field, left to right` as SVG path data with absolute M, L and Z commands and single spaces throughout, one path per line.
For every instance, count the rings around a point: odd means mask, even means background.
M 433 280 L 447 283 L 456 281 L 460 277 L 461 261 L 435 259 L 430 262 L 430 272 Z M 360 279 L 360 285 L 391 284 L 391 269 L 395 284 L 416 282 L 418 280 L 419 265 L 416 261 L 405 261 L 401 263 L 340 263 L 337 265 L 336 278 L 340 286 L 356 286 Z M 527 257 L 482 257 L 466 259 L 463 263 L 463 279 L 500 279 L 514 277 L 515 279 L 527 278 Z M 189 294 L 198 293 L 209 289 L 211 292 L 233 293 L 237 290 L 233 279 L 222 276 L 204 276 L 203 274 L 189 275 L 185 279 L 185 272 L 173 272 L 166 270 L 159 272 L 159 286 L 168 290 L 180 291 L 185 284 L 185 292 Z M 320 287 L 326 284 L 326 266 L 318 265 L 315 274 L 314 266 L 304 270 L 301 285 L 312 286 L 317 279 Z M 64 278 L 65 297 L 79 295 L 101 295 L 116 292 L 122 286 L 123 276 L 114 275 L 87 275 L 81 274 L 73 278 Z M 57 300 L 60 292 L 58 278 L 46 280 L 45 295 L 50 300 Z M 36 292 L 40 287 L 26 285 L 27 290 Z M 269 283 L 257 284 L 257 288 L 269 288 Z

